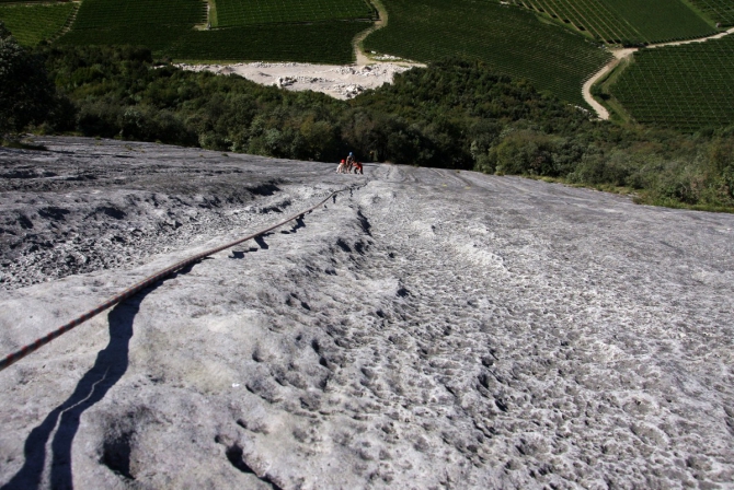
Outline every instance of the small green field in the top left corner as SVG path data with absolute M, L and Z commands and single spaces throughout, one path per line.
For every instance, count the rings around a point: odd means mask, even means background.
M 0 21 L 20 44 L 35 46 L 58 34 L 73 9 L 73 3 L 2 5 Z

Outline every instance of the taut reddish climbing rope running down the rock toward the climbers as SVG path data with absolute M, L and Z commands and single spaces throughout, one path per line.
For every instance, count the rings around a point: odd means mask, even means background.
M 222 245 L 222 246 L 219 246 L 217 248 L 211 248 L 211 249 L 203 252 L 200 254 L 196 254 L 192 257 L 188 257 L 184 260 L 181 260 L 180 262 L 174 264 L 171 267 L 168 267 L 163 270 L 160 270 L 152 276 L 149 276 L 148 278 L 144 279 L 142 281 L 138 282 L 137 284 L 134 284 L 134 285 L 129 287 L 128 289 L 121 292 L 119 294 L 116 294 L 116 295 L 112 296 L 111 299 L 108 299 L 104 303 L 102 303 L 102 304 L 98 305 L 96 307 L 90 310 L 89 312 L 84 313 L 83 315 L 78 316 L 77 318 L 72 319 L 71 322 L 69 322 L 65 325 L 61 325 L 59 328 L 53 330 L 51 332 L 47 334 L 46 336 L 36 339 L 33 343 L 28 343 L 27 346 L 23 346 L 22 348 L 20 348 L 15 352 L 12 352 L 12 353 L 5 355 L 4 358 L 0 359 L 0 371 L 4 370 L 5 368 L 8 368 L 11 364 L 14 364 L 15 362 L 25 358 L 30 353 L 35 352 L 36 350 L 38 350 L 39 348 L 42 348 L 46 343 L 50 342 L 55 338 L 60 337 L 61 335 L 71 330 L 72 328 L 78 327 L 79 325 L 83 324 L 88 319 L 99 315 L 100 313 L 102 313 L 105 310 L 116 305 L 117 303 L 121 303 L 121 302 L 125 301 L 126 299 L 128 299 L 128 298 L 133 296 L 134 294 L 140 292 L 141 290 L 146 289 L 147 287 L 160 281 L 161 279 L 164 279 L 164 278 L 171 276 L 172 273 L 176 272 L 177 270 L 181 270 L 186 266 L 195 264 L 195 262 L 197 262 L 197 261 L 202 260 L 203 258 L 206 258 L 210 255 L 217 254 L 221 250 L 226 250 L 227 248 L 231 248 L 231 247 L 233 247 L 236 245 L 239 245 L 243 242 L 246 242 L 249 240 L 256 238 L 257 236 L 262 236 L 265 233 L 268 233 L 268 232 L 271 232 L 271 231 L 273 231 L 277 228 L 280 228 L 280 226 L 283 226 L 284 224 L 286 224 L 290 221 L 297 220 L 299 218 L 303 218 L 305 214 L 310 213 L 311 211 L 313 211 L 314 209 L 317 209 L 321 205 L 325 203 L 329 199 L 335 198 L 337 194 L 344 192 L 346 190 L 354 190 L 354 187 L 346 187 L 344 189 L 335 190 L 335 191 L 331 192 L 325 199 L 323 199 L 322 201 L 319 201 L 317 205 L 314 205 L 314 206 L 312 206 L 312 207 L 310 207 L 310 208 L 308 208 L 303 211 L 300 211 L 300 212 L 280 221 L 277 224 L 274 224 L 274 225 L 272 225 L 272 226 L 269 226 L 265 230 L 260 230 L 256 233 L 253 233 L 251 235 L 248 235 L 248 236 L 244 236 L 242 238 L 236 240 L 234 242 L 230 242 L 230 243 L 228 243 L 226 245 Z

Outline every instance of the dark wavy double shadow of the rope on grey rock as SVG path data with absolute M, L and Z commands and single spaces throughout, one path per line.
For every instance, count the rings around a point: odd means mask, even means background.
M 188 266 L 172 278 L 187 273 Z M 161 281 L 115 306 L 107 316 L 110 322 L 110 343 L 96 354 L 91 370 L 77 384 L 77 388 L 66 401 L 56 407 L 46 419 L 31 431 L 25 440 L 25 464 L 0 490 L 37 489 L 46 463 L 46 444 L 57 427 L 51 442 L 50 487 L 73 488 L 71 475 L 71 444 L 79 430 L 82 413 L 102 400 L 127 371 L 129 342 L 133 338 L 133 323 L 142 300 L 160 287 Z M 125 465 L 123 465 L 125 466 Z M 127 475 L 125 475 L 127 476 Z

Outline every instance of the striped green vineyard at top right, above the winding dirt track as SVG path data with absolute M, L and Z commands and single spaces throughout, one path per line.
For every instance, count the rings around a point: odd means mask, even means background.
M 701 2 L 718 0 L 698 0 Z M 727 1 L 730 4 L 731 0 Z M 514 0 L 607 44 L 704 37 L 715 30 L 680 0 Z

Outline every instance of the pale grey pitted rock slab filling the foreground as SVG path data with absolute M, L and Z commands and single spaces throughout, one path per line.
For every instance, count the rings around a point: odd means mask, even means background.
M 2 488 L 734 480 L 732 215 L 465 172 L 45 143 L 0 150 L 0 354 L 352 190 L 0 372 Z

